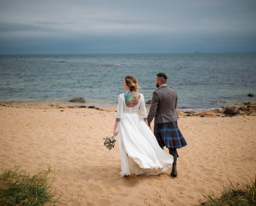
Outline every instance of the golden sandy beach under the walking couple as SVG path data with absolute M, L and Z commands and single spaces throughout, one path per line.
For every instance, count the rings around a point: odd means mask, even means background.
M 118 144 L 110 151 L 102 146 L 116 109 L 101 109 L 0 106 L 0 169 L 21 165 L 34 173 L 51 165 L 53 188 L 65 205 L 192 205 L 204 201 L 201 191 L 219 194 L 228 178 L 234 184 L 255 178 L 256 116 L 180 111 L 178 126 L 188 145 L 178 149 L 178 176 L 169 169 L 122 177 Z

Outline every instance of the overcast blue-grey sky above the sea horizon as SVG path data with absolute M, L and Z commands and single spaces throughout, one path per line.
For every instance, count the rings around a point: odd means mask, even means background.
M 0 0 L 0 54 L 256 52 L 255 0 Z

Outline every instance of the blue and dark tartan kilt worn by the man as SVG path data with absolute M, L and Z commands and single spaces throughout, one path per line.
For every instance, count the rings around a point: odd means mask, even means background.
M 182 148 L 187 145 L 177 121 L 170 123 L 155 123 L 154 134 L 160 147 Z

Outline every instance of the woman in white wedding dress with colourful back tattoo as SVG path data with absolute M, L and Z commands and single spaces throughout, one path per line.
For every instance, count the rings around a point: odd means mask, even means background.
M 118 97 L 117 115 L 113 134 L 119 139 L 121 175 L 159 175 L 173 163 L 173 156 L 158 145 L 148 127 L 147 110 L 143 94 L 137 92 L 138 81 L 125 77 L 125 94 Z M 138 114 L 141 111 L 141 118 Z

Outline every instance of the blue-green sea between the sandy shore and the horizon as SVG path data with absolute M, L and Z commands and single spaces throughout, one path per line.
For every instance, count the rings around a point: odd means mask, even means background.
M 256 101 L 256 54 L 59 54 L 0 55 L 0 103 L 115 108 L 127 75 L 147 102 L 158 73 L 176 89 L 179 109 Z M 69 102 L 76 97 L 85 103 Z

